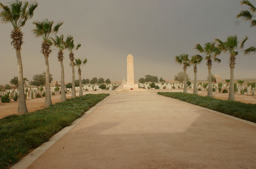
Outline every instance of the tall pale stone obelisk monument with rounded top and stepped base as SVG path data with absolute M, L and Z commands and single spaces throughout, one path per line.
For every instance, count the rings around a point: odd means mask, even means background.
M 138 84 L 134 84 L 134 69 L 133 69 L 133 56 L 127 56 L 127 84 L 124 84 L 124 89 L 137 89 Z

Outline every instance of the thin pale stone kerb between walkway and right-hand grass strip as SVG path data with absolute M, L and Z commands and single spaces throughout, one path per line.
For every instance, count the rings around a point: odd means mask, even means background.
M 160 95 L 160 96 L 163 96 L 163 95 Z M 167 97 L 167 96 L 163 96 L 163 97 Z M 225 116 L 225 117 L 228 117 L 228 118 L 232 118 L 232 119 L 237 120 L 237 121 L 239 121 L 239 122 L 246 123 L 246 124 L 250 124 L 250 125 L 256 127 L 256 123 L 253 123 L 253 122 L 250 122 L 250 121 L 247 121 L 247 120 L 238 118 L 238 117 L 230 116 L 230 115 L 227 115 L 227 114 L 225 114 L 225 113 L 220 113 L 220 112 L 218 112 L 218 111 L 211 110 L 211 109 L 207 109 L 207 108 L 204 108 L 204 107 L 201 107 L 201 106 L 197 106 L 197 105 L 194 105 L 194 104 L 191 104 L 191 103 L 188 103 L 188 102 L 184 102 L 184 101 L 181 101 L 181 100 L 178 100 L 178 99 L 174 99 L 174 98 L 172 98 L 172 97 L 167 97 L 167 98 L 172 99 L 172 100 L 175 100 L 175 101 L 177 101 L 177 102 L 182 102 L 182 103 L 185 103 L 185 104 L 189 104 L 189 105 L 195 106 L 195 107 L 197 107 L 197 108 L 199 108 L 199 109 L 204 109 L 204 110 L 210 111 L 210 112 L 212 112 L 212 113 L 215 113 L 215 114 L 218 114 L 218 115 L 221 115 L 221 116 Z

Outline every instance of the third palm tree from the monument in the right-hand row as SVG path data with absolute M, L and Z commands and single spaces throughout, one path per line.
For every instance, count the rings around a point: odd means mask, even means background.
M 200 44 L 196 44 L 195 47 L 196 50 L 198 50 L 200 53 L 204 53 L 204 59 L 207 60 L 207 67 L 208 67 L 208 77 L 212 77 L 212 59 L 214 62 L 220 63 L 221 60 L 217 58 L 217 55 L 220 54 L 220 50 L 215 47 L 214 42 L 208 42 L 204 44 L 204 48 Z M 212 78 L 208 78 L 208 92 L 207 96 L 212 97 L 212 90 L 210 89 L 212 87 Z

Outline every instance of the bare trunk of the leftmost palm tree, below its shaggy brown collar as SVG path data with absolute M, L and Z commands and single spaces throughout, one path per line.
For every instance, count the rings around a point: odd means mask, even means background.
M 19 90 L 19 103 L 18 103 L 17 113 L 20 115 L 23 113 L 27 113 L 28 109 L 27 109 L 26 99 L 24 94 L 23 68 L 22 68 L 22 62 L 21 62 L 20 49 L 16 49 L 16 56 L 17 56 L 17 63 L 18 63 L 18 90 Z

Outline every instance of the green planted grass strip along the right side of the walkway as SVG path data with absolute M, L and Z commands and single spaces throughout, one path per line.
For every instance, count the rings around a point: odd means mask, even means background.
M 199 96 L 181 92 L 158 92 L 157 94 L 256 123 L 256 104 L 221 100 L 209 96 Z

